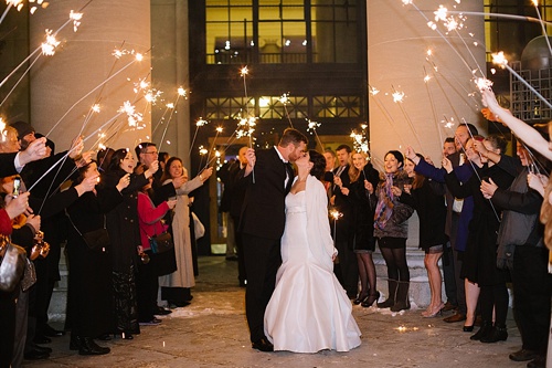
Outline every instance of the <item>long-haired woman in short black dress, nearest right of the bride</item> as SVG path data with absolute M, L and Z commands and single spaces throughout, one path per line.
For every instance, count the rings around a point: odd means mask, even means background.
M 353 303 L 369 307 L 378 301 L 380 293 L 375 288 L 375 265 L 372 259 L 372 252 L 375 250 L 373 218 L 378 199 L 367 187 L 369 182 L 372 188 L 376 187 L 380 174 L 368 162 L 365 153 L 354 153 L 349 166 L 349 178 L 350 187 L 342 187 L 341 192 L 352 206 L 353 251 L 357 254 L 361 283 L 361 291 Z

